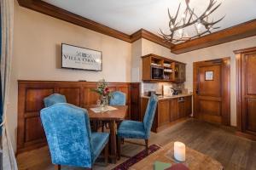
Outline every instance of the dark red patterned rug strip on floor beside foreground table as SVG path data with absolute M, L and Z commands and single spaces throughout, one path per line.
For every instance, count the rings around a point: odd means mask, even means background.
M 119 164 L 117 167 L 114 167 L 112 170 L 126 170 L 132 165 L 136 164 L 138 161 L 142 161 L 145 157 L 149 156 L 150 154 L 154 153 L 156 150 L 159 150 L 160 146 L 156 144 L 152 144 L 148 147 L 148 155 L 146 150 L 139 152 L 136 156 L 132 156 L 127 161 Z

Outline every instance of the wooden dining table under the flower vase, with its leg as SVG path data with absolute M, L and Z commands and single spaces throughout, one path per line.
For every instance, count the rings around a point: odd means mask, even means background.
M 101 113 L 96 113 L 91 111 L 90 108 L 94 108 L 96 105 L 89 105 L 84 107 L 88 111 L 88 115 L 91 121 L 108 121 L 110 138 L 108 144 L 110 144 L 110 158 L 113 163 L 117 160 L 117 150 L 116 150 L 116 122 L 125 119 L 128 106 L 127 105 L 115 105 L 113 107 L 117 108 L 114 111 L 105 111 Z

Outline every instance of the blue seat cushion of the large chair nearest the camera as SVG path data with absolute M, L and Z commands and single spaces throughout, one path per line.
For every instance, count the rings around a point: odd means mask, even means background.
M 96 161 L 97 156 L 99 156 L 104 149 L 105 145 L 108 143 L 109 133 L 91 133 L 91 147 L 92 147 L 92 160 Z

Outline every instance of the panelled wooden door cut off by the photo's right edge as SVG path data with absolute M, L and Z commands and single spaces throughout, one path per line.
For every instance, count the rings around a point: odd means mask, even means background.
M 242 131 L 256 135 L 256 50 L 241 54 Z

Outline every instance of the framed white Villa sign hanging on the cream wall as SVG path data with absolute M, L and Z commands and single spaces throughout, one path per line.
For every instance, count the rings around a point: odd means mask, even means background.
M 61 43 L 61 68 L 102 71 L 102 52 Z

